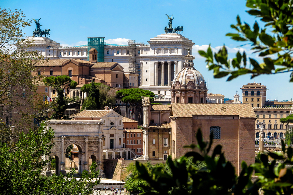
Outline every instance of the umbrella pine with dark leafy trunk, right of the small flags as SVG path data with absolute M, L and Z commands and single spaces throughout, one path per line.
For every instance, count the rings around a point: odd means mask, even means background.
M 67 103 L 65 101 L 67 93 L 64 93 L 64 90 L 75 89 L 77 82 L 72 81 L 70 77 L 66 75 L 45 77 L 43 81 L 45 85 L 53 87 L 57 90 L 56 104 L 53 106 L 54 113 L 52 114 L 52 118 L 61 119 L 67 108 Z

